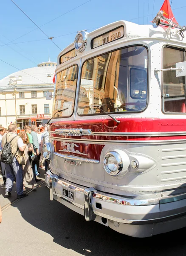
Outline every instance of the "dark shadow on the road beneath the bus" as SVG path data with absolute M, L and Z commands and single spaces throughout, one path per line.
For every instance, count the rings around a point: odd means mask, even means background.
M 57 201 L 50 201 L 49 190 L 45 185 L 13 206 L 20 210 L 25 221 L 50 234 L 55 243 L 82 255 L 186 254 L 186 228 L 144 239 L 125 236 L 95 221 L 85 221 L 84 216 Z

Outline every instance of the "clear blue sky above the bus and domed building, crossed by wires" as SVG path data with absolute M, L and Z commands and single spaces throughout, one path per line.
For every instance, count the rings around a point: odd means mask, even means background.
M 178 23 L 186 25 L 186 1 L 169 2 L 172 2 L 172 12 Z M 64 49 L 82 29 L 91 32 L 117 20 L 150 24 L 163 0 L 14 0 L 14 3 L 49 37 L 54 37 L 60 49 Z M 59 48 L 14 3 L 1 1 L 0 59 L 20 70 L 48 61 L 48 51 L 51 61 L 56 61 Z M 16 72 L 14 67 L 0 61 L 0 79 Z

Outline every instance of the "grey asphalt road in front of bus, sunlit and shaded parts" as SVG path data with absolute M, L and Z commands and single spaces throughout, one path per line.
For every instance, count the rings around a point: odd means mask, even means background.
M 121 235 L 50 201 L 42 185 L 3 210 L 0 256 L 182 256 L 185 234 L 186 228 L 145 239 Z

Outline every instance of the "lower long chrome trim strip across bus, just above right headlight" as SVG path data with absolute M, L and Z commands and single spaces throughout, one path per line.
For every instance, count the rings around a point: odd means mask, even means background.
M 69 141 L 69 142 L 74 142 L 74 143 L 84 143 L 84 144 L 101 144 L 101 145 L 106 145 L 106 144 L 172 144 L 172 143 L 186 143 L 186 139 L 184 140 L 85 140 L 85 139 L 71 139 L 71 138 L 61 138 L 61 137 L 53 137 L 49 136 L 51 140 L 56 140 L 56 141 Z

